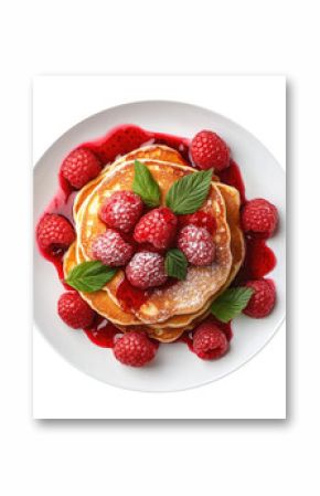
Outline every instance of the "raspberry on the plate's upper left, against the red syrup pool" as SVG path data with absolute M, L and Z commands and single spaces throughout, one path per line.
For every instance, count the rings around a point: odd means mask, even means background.
M 83 188 L 97 177 L 100 170 L 100 161 L 90 150 L 85 148 L 73 150 L 61 166 L 62 176 L 75 189 Z

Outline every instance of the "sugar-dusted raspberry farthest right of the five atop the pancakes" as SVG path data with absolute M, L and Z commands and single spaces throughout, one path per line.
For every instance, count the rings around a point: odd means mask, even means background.
M 185 225 L 179 233 L 178 246 L 192 265 L 210 265 L 214 261 L 215 245 L 204 228 Z

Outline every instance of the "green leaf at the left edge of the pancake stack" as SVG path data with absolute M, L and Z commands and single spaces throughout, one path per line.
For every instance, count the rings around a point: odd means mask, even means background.
M 75 289 L 93 293 L 102 289 L 116 275 L 117 268 L 108 267 L 102 262 L 83 262 L 67 275 L 65 282 Z

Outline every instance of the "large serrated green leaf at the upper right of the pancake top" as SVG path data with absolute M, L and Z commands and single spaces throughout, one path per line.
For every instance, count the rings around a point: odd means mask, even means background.
M 212 169 L 184 176 L 175 181 L 166 197 L 166 204 L 177 214 L 194 213 L 207 197 Z

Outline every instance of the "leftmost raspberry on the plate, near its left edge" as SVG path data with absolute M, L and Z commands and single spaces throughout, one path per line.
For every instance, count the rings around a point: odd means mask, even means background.
M 45 213 L 36 226 L 36 240 L 41 250 L 57 256 L 74 242 L 75 232 L 64 217 Z

